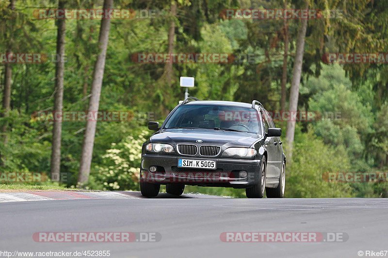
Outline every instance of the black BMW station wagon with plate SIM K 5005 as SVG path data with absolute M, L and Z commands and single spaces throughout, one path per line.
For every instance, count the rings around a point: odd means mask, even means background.
M 194 100 L 194 101 L 190 101 Z M 258 102 L 199 101 L 176 106 L 142 148 L 140 186 L 158 195 L 160 184 L 180 195 L 185 185 L 245 188 L 247 197 L 283 197 L 285 163 L 271 116 Z

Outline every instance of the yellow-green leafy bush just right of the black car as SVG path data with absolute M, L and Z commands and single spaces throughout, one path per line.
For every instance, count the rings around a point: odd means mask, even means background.
M 348 183 L 326 182 L 326 172 L 348 171 L 350 164 L 343 147 L 330 147 L 313 131 L 298 133 L 291 166 L 286 169 L 285 197 L 351 197 Z

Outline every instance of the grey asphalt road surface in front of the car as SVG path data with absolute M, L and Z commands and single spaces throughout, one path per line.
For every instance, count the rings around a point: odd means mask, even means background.
M 388 200 L 210 196 L 0 203 L 0 251 L 110 250 L 110 257 L 360 257 L 388 250 Z M 158 232 L 159 242 L 39 243 L 34 232 Z M 344 232 L 346 242 L 225 243 L 222 232 Z M 0 255 L 1 257 L 1 255 Z M 388 254 L 386 255 L 388 257 Z

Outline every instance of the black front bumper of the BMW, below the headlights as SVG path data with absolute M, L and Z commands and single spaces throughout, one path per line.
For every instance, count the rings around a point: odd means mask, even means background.
M 179 158 L 215 160 L 217 169 L 178 168 Z M 246 188 L 259 182 L 260 164 L 261 160 L 143 153 L 140 182 Z M 150 172 L 149 167 L 151 166 L 157 167 L 157 171 Z M 240 177 L 240 171 L 242 170 L 247 172 L 246 177 Z

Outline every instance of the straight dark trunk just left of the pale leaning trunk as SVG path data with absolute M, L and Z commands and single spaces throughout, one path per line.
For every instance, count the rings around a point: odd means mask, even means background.
M 58 9 L 65 9 L 65 0 L 59 0 Z M 64 72 L 65 72 L 65 19 L 57 21 L 57 63 L 55 67 L 55 94 L 54 94 L 54 112 L 62 114 L 64 99 Z M 58 116 L 54 116 L 58 117 Z M 61 138 L 62 138 L 62 116 L 58 121 L 54 120 L 52 128 L 52 147 L 51 147 L 51 180 L 60 180 L 61 167 Z

